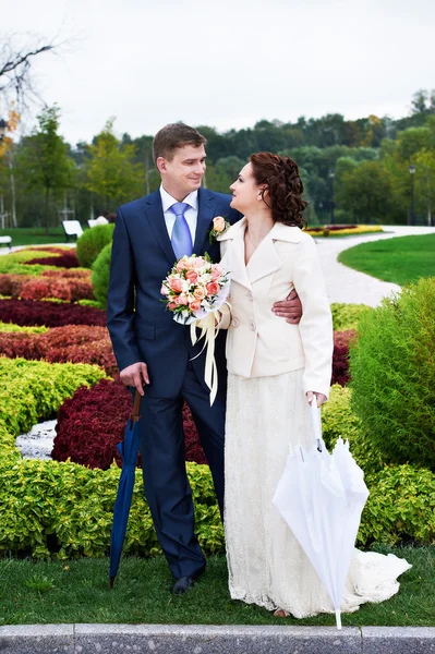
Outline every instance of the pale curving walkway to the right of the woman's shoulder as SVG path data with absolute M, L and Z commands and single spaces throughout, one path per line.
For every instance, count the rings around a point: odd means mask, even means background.
M 380 281 L 370 275 L 352 270 L 352 268 L 339 264 L 337 256 L 343 250 L 348 250 L 360 243 L 392 239 L 395 237 L 435 234 L 435 227 L 383 226 L 383 229 L 384 233 L 376 235 L 316 239 L 329 302 L 376 306 L 383 298 L 389 295 L 392 291 L 400 290 L 400 287 L 396 283 Z

